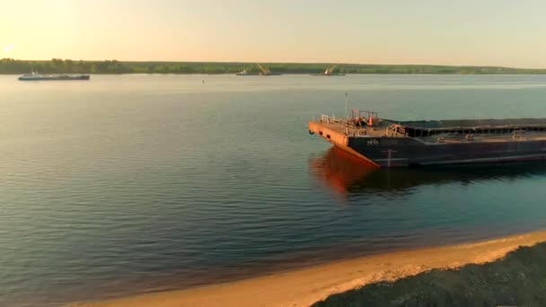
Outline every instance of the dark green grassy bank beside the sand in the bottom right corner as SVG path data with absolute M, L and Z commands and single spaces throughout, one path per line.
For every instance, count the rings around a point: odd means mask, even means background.
M 546 243 L 505 259 L 461 269 L 433 269 L 331 295 L 323 306 L 546 306 Z

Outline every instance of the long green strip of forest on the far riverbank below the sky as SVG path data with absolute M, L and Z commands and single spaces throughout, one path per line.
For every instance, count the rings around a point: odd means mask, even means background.
M 330 64 L 261 63 L 280 74 L 320 74 Z M 53 58 L 48 61 L 0 59 L 1 75 L 40 74 L 235 74 L 243 69 L 258 73 L 255 63 L 220 62 L 120 62 L 118 60 L 84 61 Z M 339 74 L 546 74 L 546 69 L 496 66 L 366 65 L 340 64 Z

